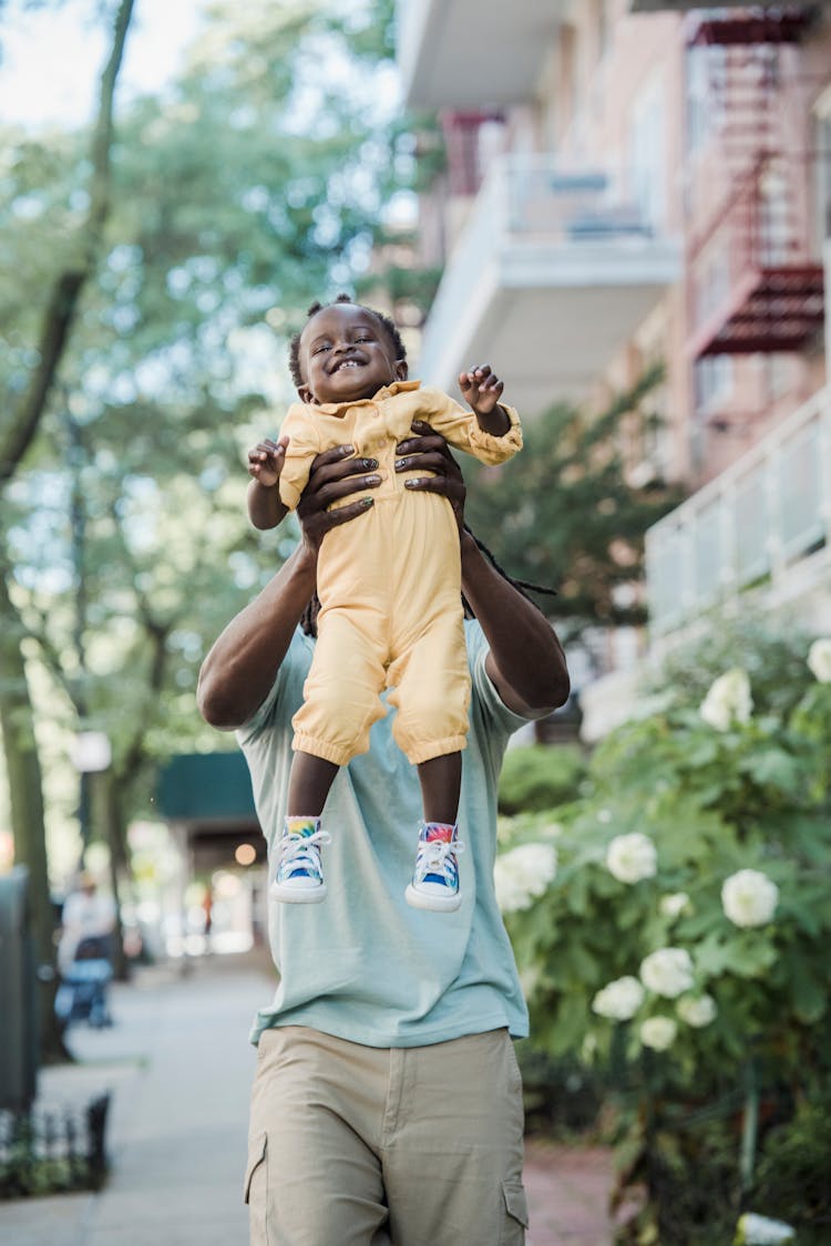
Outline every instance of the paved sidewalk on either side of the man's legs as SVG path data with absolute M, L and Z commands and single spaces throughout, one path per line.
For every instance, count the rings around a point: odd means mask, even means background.
M 116 984 L 113 1028 L 72 1027 L 78 1063 L 39 1079 L 39 1101 L 52 1106 L 111 1089 L 107 1182 L 98 1194 L 0 1202 L 0 1244 L 247 1246 L 247 1035 L 272 989 L 250 956 L 203 958 L 186 977 L 145 969 Z M 604 1151 L 529 1146 L 529 1246 L 610 1246 L 609 1182 Z

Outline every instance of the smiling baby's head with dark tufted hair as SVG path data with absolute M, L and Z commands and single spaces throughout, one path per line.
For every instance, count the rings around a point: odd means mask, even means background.
M 321 308 L 300 335 L 304 402 L 354 402 L 405 380 L 407 365 L 380 320 L 353 303 Z

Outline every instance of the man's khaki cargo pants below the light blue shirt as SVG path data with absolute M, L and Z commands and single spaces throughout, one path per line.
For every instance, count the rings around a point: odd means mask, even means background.
M 373 1048 L 265 1030 L 252 1246 L 522 1246 L 522 1085 L 507 1030 Z

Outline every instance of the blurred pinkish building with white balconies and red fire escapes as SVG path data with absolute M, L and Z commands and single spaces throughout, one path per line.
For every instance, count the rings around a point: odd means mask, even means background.
M 748 593 L 831 628 L 827 7 L 400 0 L 399 61 L 447 151 L 421 199 L 425 380 L 487 359 L 532 419 L 664 363 L 630 471 L 689 497 L 648 533 L 648 640 L 612 638 L 587 734 L 647 644 Z

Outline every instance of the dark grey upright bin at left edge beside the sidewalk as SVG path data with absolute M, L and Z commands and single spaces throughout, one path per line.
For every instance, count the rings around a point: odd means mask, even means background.
M 37 1077 L 35 944 L 29 871 L 0 876 L 0 1109 L 26 1111 Z

